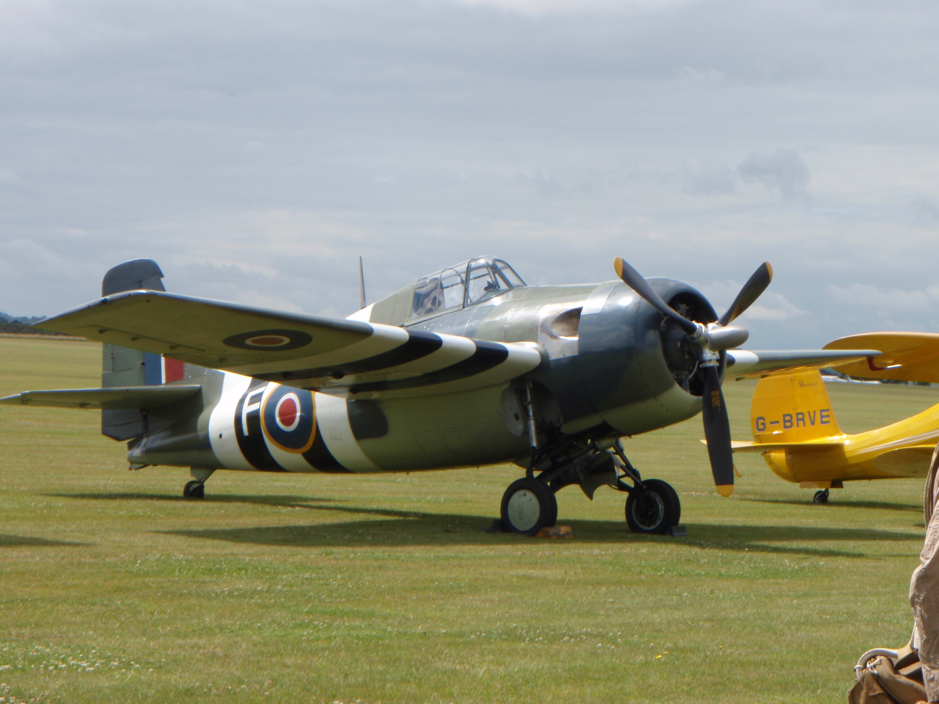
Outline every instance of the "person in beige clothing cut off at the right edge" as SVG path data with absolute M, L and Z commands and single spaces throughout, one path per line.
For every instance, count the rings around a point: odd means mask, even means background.
M 926 543 L 919 553 L 919 567 L 910 578 L 910 605 L 916 622 L 914 641 L 919 641 L 923 684 L 929 700 L 939 702 L 939 511 L 936 511 L 936 499 L 939 499 L 939 445 L 932 452 L 923 497 Z

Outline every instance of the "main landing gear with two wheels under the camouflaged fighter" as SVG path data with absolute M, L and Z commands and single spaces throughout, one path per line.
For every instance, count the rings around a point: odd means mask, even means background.
M 607 447 L 590 439 L 562 437 L 536 451 L 526 476 L 512 482 L 502 495 L 502 527 L 510 533 L 534 535 L 554 526 L 558 520 L 554 495 L 568 484 L 577 484 L 591 499 L 604 484 L 628 494 L 626 525 L 634 533 L 667 533 L 677 526 L 682 504 L 670 484 L 659 479 L 643 481 L 619 440 Z

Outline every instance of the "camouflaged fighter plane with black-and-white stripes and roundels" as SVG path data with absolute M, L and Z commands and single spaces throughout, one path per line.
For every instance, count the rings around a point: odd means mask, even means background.
M 528 286 L 480 257 L 424 276 L 345 320 L 166 293 L 156 262 L 104 276 L 101 298 L 39 324 L 102 342 L 102 389 L 24 391 L 8 404 L 101 409 L 131 469 L 191 467 L 184 496 L 216 469 L 414 471 L 516 462 L 505 529 L 553 526 L 554 493 L 628 494 L 626 521 L 666 532 L 681 505 L 643 480 L 621 438 L 703 411 L 718 492 L 733 490 L 720 390 L 735 377 L 863 360 L 872 350 L 730 351 L 730 323 L 770 283 L 762 265 L 719 318 L 691 286 L 646 281 Z M 628 482 L 628 483 L 627 483 Z

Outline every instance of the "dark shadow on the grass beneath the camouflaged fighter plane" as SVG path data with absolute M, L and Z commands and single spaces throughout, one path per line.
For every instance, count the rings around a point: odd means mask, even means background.
M 56 494 L 56 497 L 103 500 L 161 500 L 189 503 L 182 497 L 164 494 Z M 213 495 L 199 502 L 250 503 L 260 506 L 302 509 L 314 513 L 346 513 L 374 516 L 364 520 L 329 523 L 295 524 L 290 526 L 256 526 L 244 528 L 198 528 L 162 530 L 165 535 L 187 538 L 290 547 L 362 547 L 408 545 L 492 545 L 531 541 L 519 535 L 486 533 L 492 516 L 456 513 L 422 513 L 395 509 L 362 508 L 343 505 L 341 499 L 300 496 L 239 496 Z M 875 528 L 825 528 L 812 526 L 752 526 L 719 524 L 685 524 L 687 538 L 638 535 L 629 532 L 625 521 L 570 520 L 563 521 L 574 529 L 574 541 L 558 543 L 676 543 L 708 550 L 786 553 L 814 557 L 867 557 L 863 549 L 844 550 L 828 545 L 805 543 L 896 542 L 921 543 L 921 533 L 878 530 Z

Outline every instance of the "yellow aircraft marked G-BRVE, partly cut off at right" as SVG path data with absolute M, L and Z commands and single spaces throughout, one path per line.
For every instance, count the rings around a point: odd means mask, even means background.
M 939 334 L 874 332 L 839 338 L 825 349 L 876 349 L 882 354 L 836 367 L 869 379 L 939 382 Z M 734 452 L 759 452 L 787 482 L 829 489 L 862 479 L 925 478 L 939 441 L 939 404 L 903 421 L 856 435 L 841 432 L 817 370 L 764 377 L 750 406 L 753 442 L 732 443 Z

